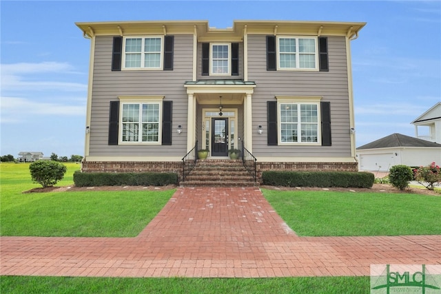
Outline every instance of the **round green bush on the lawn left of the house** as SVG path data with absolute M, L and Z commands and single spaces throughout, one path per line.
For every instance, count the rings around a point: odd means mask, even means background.
M 65 165 L 53 160 L 38 160 L 29 165 L 30 176 L 33 182 L 37 182 L 43 188 L 52 187 L 63 179 L 68 170 Z

